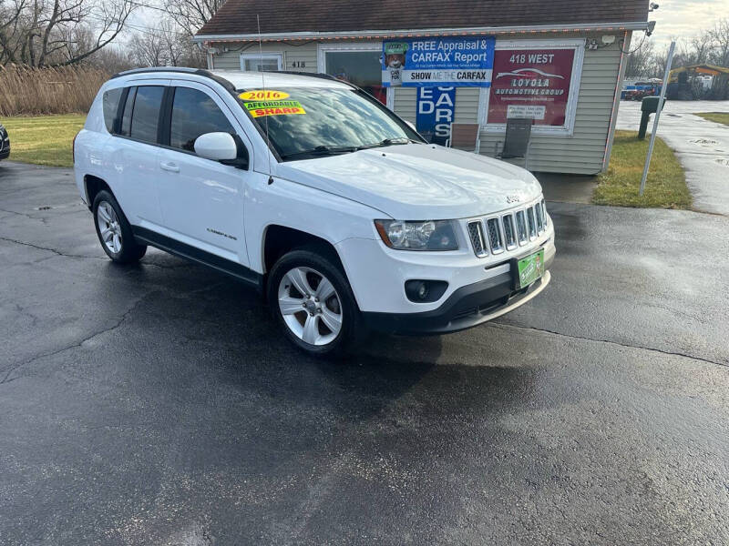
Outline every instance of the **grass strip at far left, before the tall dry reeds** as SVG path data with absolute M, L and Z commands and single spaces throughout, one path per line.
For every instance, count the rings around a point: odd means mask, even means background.
M 71 144 L 86 116 L 17 116 L 0 119 L 10 135 L 12 161 L 73 167 Z

